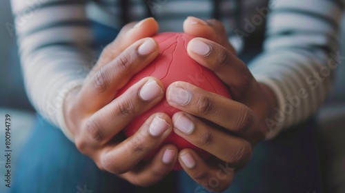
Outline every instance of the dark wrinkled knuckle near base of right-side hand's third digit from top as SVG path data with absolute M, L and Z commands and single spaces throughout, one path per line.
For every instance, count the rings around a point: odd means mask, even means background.
M 246 132 L 254 122 L 254 113 L 246 105 L 242 105 L 233 122 L 235 132 Z

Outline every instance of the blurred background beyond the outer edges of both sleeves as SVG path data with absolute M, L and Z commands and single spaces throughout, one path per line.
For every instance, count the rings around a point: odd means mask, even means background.
M 6 24 L 7 23 L 7 24 Z M 3 181 L 6 171 L 3 156 L 5 114 L 12 116 L 12 175 L 31 128 L 41 116 L 34 112 L 26 96 L 17 54 L 16 38 L 8 30 L 12 24 L 9 1 L 0 1 L 0 192 L 8 192 Z M 342 52 L 345 57 L 345 19 L 342 30 Z M 335 88 L 317 113 L 317 145 L 325 192 L 345 192 L 345 60 L 337 68 Z M 13 179 L 13 176 L 12 176 Z

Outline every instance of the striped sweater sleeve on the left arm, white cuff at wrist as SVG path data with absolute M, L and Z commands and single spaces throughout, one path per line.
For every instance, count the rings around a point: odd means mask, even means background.
M 11 0 L 26 92 L 34 108 L 61 128 L 59 110 L 92 65 L 86 0 Z

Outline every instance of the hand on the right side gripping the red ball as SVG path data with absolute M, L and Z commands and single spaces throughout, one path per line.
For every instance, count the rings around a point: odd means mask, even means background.
M 272 116 L 277 99 L 236 56 L 221 22 L 188 17 L 184 31 L 197 37 L 188 43 L 190 57 L 213 70 L 233 99 L 186 82 L 169 85 L 166 99 L 181 110 L 172 116 L 174 131 L 213 154 L 203 161 L 193 150 L 184 149 L 179 163 L 197 183 L 221 191 L 233 180 L 233 169 L 248 163 L 253 147 L 269 132 L 265 119 Z

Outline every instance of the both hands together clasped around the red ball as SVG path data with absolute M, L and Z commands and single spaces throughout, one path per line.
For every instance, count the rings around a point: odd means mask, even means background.
M 158 24 L 152 18 L 124 26 L 115 41 L 103 50 L 81 88 L 66 98 L 63 108 L 66 125 L 80 152 L 90 156 L 101 170 L 130 183 L 141 186 L 157 183 L 178 160 L 197 183 L 210 190 L 225 190 L 233 180 L 233 168 L 246 165 L 254 145 L 268 132 L 264 119 L 276 105 L 275 96 L 265 85 L 257 83 L 236 57 L 219 21 L 188 17 L 184 32 L 197 37 L 188 43 L 188 54 L 213 70 L 228 85 L 233 99 L 181 81 L 164 91 L 163 84 L 154 77 L 138 81 L 114 99 L 135 73 L 157 57 L 159 45 L 148 38 L 157 31 Z M 188 100 L 176 98 L 181 90 Z M 164 96 L 181 112 L 172 118 L 164 113 L 152 114 L 126 139 L 121 130 Z M 193 150 L 178 152 L 171 144 L 162 147 L 152 161 L 143 162 L 170 132 L 213 156 L 204 161 Z M 210 184 L 214 178 L 218 179 L 217 185 Z

